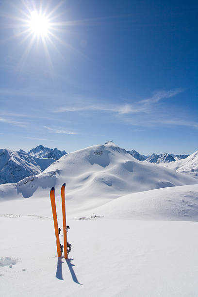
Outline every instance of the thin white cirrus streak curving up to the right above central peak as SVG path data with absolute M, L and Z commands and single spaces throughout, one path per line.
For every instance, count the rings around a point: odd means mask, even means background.
M 184 89 L 177 88 L 169 91 L 157 91 L 153 94 L 151 98 L 136 101 L 133 104 L 123 104 L 123 105 L 99 105 L 92 104 L 87 106 L 66 106 L 60 107 L 53 110 L 54 113 L 63 112 L 83 112 L 83 111 L 102 111 L 115 113 L 119 115 L 134 114 L 134 113 L 149 113 L 152 105 L 159 102 L 162 99 L 168 99 L 177 94 L 183 92 Z

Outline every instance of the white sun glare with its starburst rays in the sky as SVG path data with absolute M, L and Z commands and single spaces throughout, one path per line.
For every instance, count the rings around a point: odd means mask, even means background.
M 64 10 L 58 12 L 65 1 L 53 1 L 55 6 L 51 5 L 51 0 L 21 0 L 20 2 L 22 5 L 17 7 L 19 14 L 8 16 L 15 20 L 12 25 L 14 36 L 20 38 L 19 45 L 23 46 L 23 53 L 18 62 L 19 67 L 22 68 L 25 65 L 31 49 L 37 49 L 36 53 L 44 51 L 49 69 L 53 71 L 50 51 L 53 49 L 61 56 L 58 43 L 70 48 L 61 38 L 63 27 L 69 26 L 69 22 L 63 18 Z M 45 7 L 42 5 L 44 2 Z

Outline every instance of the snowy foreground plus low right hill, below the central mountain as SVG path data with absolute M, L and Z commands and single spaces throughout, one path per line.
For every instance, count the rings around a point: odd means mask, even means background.
M 167 213 L 181 204 L 175 221 L 153 207 L 159 191 Z M 70 209 L 67 261 L 56 257 L 49 197 L 1 202 L 1 296 L 198 296 L 198 222 L 186 221 L 198 219 L 198 185 L 136 194 L 155 198 L 142 210 L 135 194 L 123 197 L 123 209 L 121 198 L 90 212 Z M 60 197 L 57 213 L 62 228 Z M 163 220 L 152 220 L 155 214 Z

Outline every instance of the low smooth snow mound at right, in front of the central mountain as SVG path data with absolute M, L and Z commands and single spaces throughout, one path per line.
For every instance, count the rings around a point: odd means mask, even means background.
M 106 218 L 198 221 L 198 184 L 128 194 L 94 212 Z

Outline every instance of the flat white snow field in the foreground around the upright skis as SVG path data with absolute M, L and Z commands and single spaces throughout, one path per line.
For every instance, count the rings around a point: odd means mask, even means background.
M 16 261 L 0 267 L 2 296 L 198 294 L 197 222 L 69 218 L 67 262 L 54 257 L 52 220 L 22 215 L 0 222 L 1 257 Z

